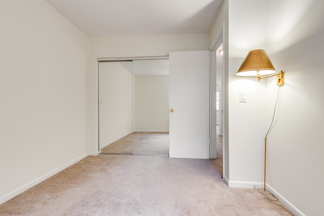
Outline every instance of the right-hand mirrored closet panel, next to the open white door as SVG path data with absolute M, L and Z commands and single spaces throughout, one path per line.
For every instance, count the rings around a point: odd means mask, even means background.
M 169 155 L 169 60 L 134 60 L 133 154 Z

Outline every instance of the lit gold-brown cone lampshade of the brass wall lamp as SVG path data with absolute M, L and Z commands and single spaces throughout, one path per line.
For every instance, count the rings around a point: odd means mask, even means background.
M 275 69 L 264 50 L 250 51 L 239 67 L 236 75 L 262 76 L 275 73 Z

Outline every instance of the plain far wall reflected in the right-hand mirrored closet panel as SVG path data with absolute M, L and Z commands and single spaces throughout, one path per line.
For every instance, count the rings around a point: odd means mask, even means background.
M 169 76 L 135 76 L 135 132 L 169 132 Z

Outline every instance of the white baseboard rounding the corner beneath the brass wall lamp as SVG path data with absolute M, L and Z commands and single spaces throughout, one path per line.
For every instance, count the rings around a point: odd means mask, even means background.
M 225 180 L 225 177 L 224 177 L 224 181 L 226 182 L 226 181 L 228 181 L 228 179 Z M 227 185 L 228 185 L 228 187 L 231 187 L 231 188 L 254 188 L 254 186 L 263 188 L 264 184 L 260 183 L 260 182 L 233 182 L 233 181 L 229 181 Z M 290 210 L 295 216 L 305 216 L 305 214 L 303 214 L 298 208 L 296 208 L 292 203 L 290 203 L 287 199 L 285 199 L 283 196 L 281 196 L 278 192 L 276 192 L 268 184 L 266 184 L 266 189 L 268 191 L 270 191 L 271 193 L 273 193 L 273 195 L 278 197 L 279 201 L 282 204 L 284 204 L 288 208 L 288 210 Z

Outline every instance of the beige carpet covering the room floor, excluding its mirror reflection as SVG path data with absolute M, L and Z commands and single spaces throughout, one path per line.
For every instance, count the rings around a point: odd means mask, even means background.
M 290 215 L 229 188 L 213 159 L 89 156 L 0 205 L 0 215 Z

